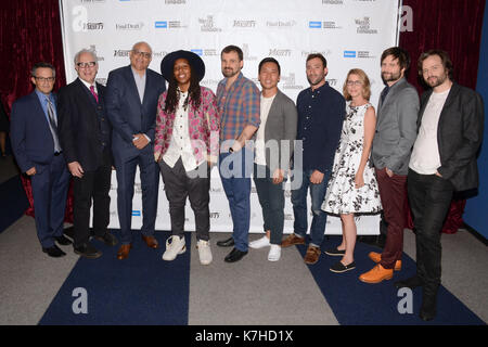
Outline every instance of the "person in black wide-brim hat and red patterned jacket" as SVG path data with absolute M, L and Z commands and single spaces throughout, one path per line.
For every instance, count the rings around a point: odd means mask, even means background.
M 214 92 L 200 86 L 205 64 L 193 52 L 176 51 L 160 63 L 168 90 L 158 101 L 154 158 L 159 164 L 169 202 L 171 236 L 163 259 L 185 252 L 187 196 L 195 215 L 200 261 L 211 262 L 209 245 L 210 167 L 219 151 L 219 117 Z

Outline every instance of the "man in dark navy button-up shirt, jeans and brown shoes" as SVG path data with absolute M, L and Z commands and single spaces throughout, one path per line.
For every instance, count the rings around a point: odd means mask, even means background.
M 329 70 L 322 54 L 309 54 L 306 68 L 310 88 L 303 90 L 296 102 L 298 128 L 293 167 L 294 181 L 298 182 L 301 176 L 301 184 L 292 187 L 294 233 L 283 241 L 282 247 L 305 244 L 308 229 L 307 193 L 310 189 L 313 218 L 305 262 L 312 265 L 319 260 L 321 253 L 326 214 L 320 207 L 341 138 L 346 102 L 343 95 L 325 81 Z

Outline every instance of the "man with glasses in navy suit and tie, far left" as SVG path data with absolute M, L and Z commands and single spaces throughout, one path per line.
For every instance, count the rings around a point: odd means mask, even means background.
M 52 93 L 55 69 L 51 64 L 38 63 L 30 73 L 36 90 L 12 105 L 12 149 L 22 172 L 31 180 L 42 252 L 62 257 L 66 254 L 55 242 L 70 244 L 63 236 L 69 174 L 57 137 L 56 97 Z

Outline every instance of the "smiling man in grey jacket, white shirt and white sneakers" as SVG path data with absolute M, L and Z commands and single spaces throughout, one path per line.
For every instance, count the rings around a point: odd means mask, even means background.
M 293 154 L 298 116 L 295 103 L 278 89 L 281 73 L 278 61 L 264 59 L 258 72 L 262 88 L 261 123 L 256 136 L 254 182 L 262 208 L 266 235 L 249 243 L 249 247 L 270 246 L 268 260 L 278 261 L 284 223 L 283 182 Z

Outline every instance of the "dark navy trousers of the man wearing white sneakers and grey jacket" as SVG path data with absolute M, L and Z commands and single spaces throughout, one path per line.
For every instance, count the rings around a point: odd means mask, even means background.
M 284 224 L 284 191 L 283 182 L 274 184 L 272 172 L 265 165 L 254 164 L 254 184 L 262 208 L 265 231 L 270 230 L 270 242 L 281 245 Z

